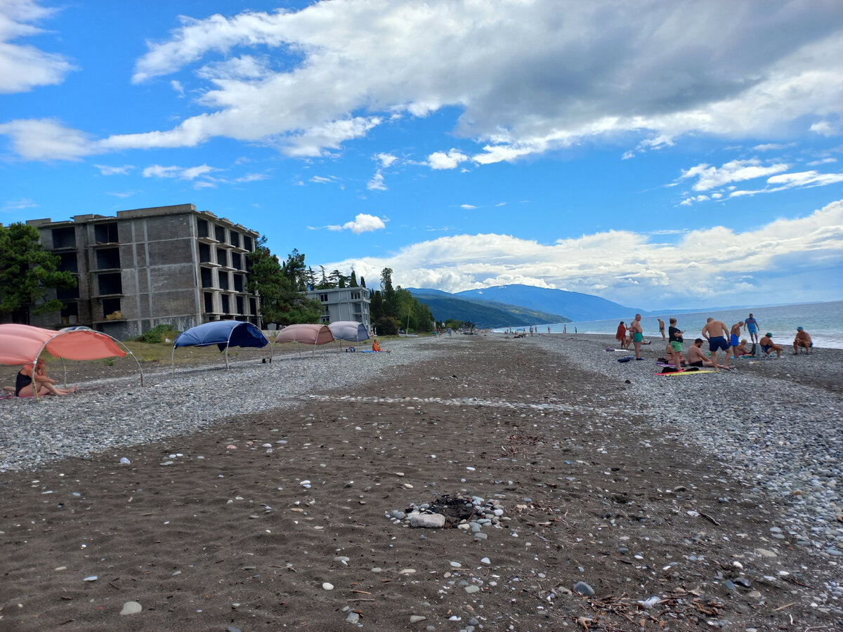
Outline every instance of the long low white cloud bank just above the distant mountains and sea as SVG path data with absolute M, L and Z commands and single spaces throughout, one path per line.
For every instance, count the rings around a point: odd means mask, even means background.
M 668 244 L 628 231 L 555 244 L 504 234 L 456 235 L 411 244 L 388 257 L 325 265 L 340 270 L 353 265 L 367 277 L 388 266 L 395 270 L 396 283 L 448 292 L 524 283 L 596 293 L 626 304 L 642 304 L 654 296 L 737 299 L 730 292 L 749 277 L 756 280 L 755 292 L 771 300 L 790 299 L 788 292 L 797 287 L 789 286 L 788 278 L 843 265 L 843 200 L 807 217 L 776 219 L 743 233 L 723 227 L 694 230 Z

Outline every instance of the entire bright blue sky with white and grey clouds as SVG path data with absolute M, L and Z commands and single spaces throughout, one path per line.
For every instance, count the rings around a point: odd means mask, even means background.
M 0 0 L 0 222 L 192 203 L 318 269 L 843 298 L 843 3 Z

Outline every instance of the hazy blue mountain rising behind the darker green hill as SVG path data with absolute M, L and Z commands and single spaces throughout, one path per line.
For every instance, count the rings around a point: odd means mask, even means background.
M 646 310 L 628 308 L 591 294 L 552 290 L 546 287 L 522 285 L 484 287 L 481 290 L 457 292 L 454 296 L 500 301 L 529 309 L 561 313 L 566 319 L 574 322 L 614 318 L 628 320 L 636 313 L 648 314 Z

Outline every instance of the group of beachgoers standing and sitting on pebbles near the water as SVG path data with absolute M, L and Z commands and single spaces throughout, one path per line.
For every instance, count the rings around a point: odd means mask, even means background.
M 636 319 L 639 318 L 636 314 Z M 658 319 L 658 322 L 659 330 L 664 338 L 663 320 Z M 711 317 L 706 319 L 706 324 L 701 331 L 702 338 L 696 338 L 694 340 L 693 345 L 688 349 L 687 357 L 682 355 L 682 351 L 684 351 L 683 335 L 685 331 L 679 329 L 676 324 L 677 320 L 675 318 L 670 319 L 667 336 L 668 345 L 665 349 L 666 363 L 674 365 L 676 371 L 681 371 L 682 367 L 708 367 L 713 368 L 715 371 L 722 368 L 729 371 L 733 368 L 729 366 L 730 358 L 756 357 L 756 345 L 762 351 L 761 356 L 771 356 L 775 351 L 776 357 L 781 357 L 781 345 L 776 345 L 773 342 L 773 334 L 770 331 L 759 338 L 759 324 L 751 313 L 747 319 L 740 320 L 731 327 L 727 327 L 722 320 Z M 752 340 L 751 349 L 747 347 L 747 340 L 741 339 L 740 337 L 742 329 L 746 329 L 749 332 L 750 340 Z M 708 342 L 708 357 L 702 351 L 702 345 L 706 341 Z M 808 335 L 808 332 L 803 327 L 797 327 L 796 337 L 793 339 L 793 355 L 797 355 L 801 349 L 806 353 L 810 353 L 812 347 L 813 342 L 811 336 Z M 717 361 L 718 351 L 725 352 L 722 364 Z M 639 353 L 636 350 L 636 359 L 639 357 Z

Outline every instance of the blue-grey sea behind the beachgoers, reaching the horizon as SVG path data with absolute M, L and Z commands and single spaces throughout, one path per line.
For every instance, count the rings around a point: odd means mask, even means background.
M 843 301 L 832 301 L 830 303 L 802 303 L 797 305 L 774 305 L 765 308 L 741 308 L 741 309 L 711 309 L 706 312 L 690 313 L 669 313 L 659 314 L 664 321 L 665 334 L 669 326 L 668 319 L 675 316 L 679 329 L 685 331 L 685 340 L 693 340 L 699 335 L 706 324 L 706 319 L 711 316 L 722 320 L 727 327 L 746 319 L 752 313 L 758 321 L 759 334 L 764 335 L 771 332 L 773 340 L 787 349 L 793 343 L 796 335 L 796 328 L 803 327 L 811 336 L 813 345 L 817 347 L 830 347 L 832 349 L 843 349 Z M 628 327 L 630 321 L 635 318 L 631 313 L 628 318 L 622 319 Z M 547 331 L 550 327 L 551 333 L 559 334 L 565 327 L 568 333 L 573 334 L 576 330 L 579 334 L 611 334 L 615 335 L 621 319 L 588 320 L 582 323 L 559 323 L 536 325 L 540 333 Z M 644 316 L 641 319 L 645 339 L 661 338 L 658 333 L 658 315 Z M 518 327 L 518 329 L 521 329 Z M 495 329 L 495 331 L 506 331 L 507 328 Z M 749 332 L 745 329 L 741 338 L 749 340 Z

